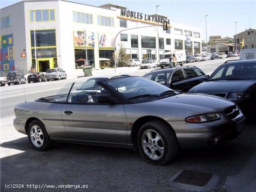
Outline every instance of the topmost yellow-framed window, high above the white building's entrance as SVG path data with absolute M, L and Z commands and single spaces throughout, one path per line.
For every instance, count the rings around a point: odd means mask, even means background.
M 55 20 L 55 11 L 54 9 L 42 9 L 42 10 L 30 10 L 30 21 L 34 22 L 34 19 L 36 22 L 40 21 L 54 21 Z M 35 18 L 34 18 L 35 16 Z

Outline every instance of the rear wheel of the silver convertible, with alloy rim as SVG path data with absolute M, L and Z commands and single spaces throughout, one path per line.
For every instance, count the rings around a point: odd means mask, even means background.
M 38 151 L 45 151 L 53 145 L 45 126 L 39 120 L 30 122 L 27 129 L 27 135 L 30 144 Z

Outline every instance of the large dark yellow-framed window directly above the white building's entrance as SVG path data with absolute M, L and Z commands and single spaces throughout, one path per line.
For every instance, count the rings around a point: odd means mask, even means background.
M 34 31 L 30 31 L 31 47 L 34 47 Z M 36 46 L 56 46 L 55 30 L 35 31 Z

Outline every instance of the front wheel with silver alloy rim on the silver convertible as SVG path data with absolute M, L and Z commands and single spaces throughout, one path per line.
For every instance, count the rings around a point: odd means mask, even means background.
M 165 165 L 178 154 L 175 132 L 159 120 L 149 121 L 141 126 L 137 141 L 141 155 L 155 165 Z

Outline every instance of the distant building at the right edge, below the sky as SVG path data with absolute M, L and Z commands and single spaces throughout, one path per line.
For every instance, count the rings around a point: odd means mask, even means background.
M 237 52 L 245 48 L 256 47 L 256 29 L 246 29 L 245 31 L 234 35 L 234 46 Z

